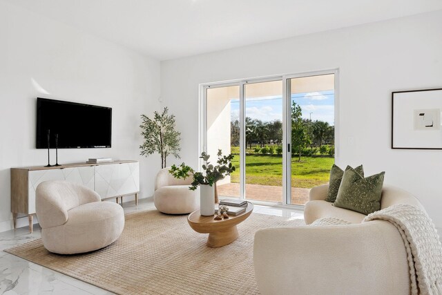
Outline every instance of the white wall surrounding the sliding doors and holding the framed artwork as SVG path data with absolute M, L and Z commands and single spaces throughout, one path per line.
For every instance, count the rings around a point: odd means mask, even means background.
M 442 87 L 442 11 L 162 61 L 164 105 L 182 127 L 182 160 L 198 163 L 198 84 L 340 69 L 339 165 L 414 193 L 442 227 L 441 151 L 390 149 L 391 93 Z M 183 112 L 183 110 L 186 110 Z

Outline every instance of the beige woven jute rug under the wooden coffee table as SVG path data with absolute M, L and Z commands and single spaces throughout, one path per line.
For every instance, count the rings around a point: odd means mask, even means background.
M 252 213 L 238 225 L 238 240 L 212 249 L 207 234 L 193 231 L 186 218 L 155 209 L 130 213 L 116 242 L 88 254 L 51 254 L 41 239 L 5 251 L 117 294 L 259 294 L 255 232 L 304 224 Z

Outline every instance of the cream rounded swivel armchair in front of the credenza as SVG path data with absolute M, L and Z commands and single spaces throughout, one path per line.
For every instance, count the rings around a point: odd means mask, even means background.
M 99 194 L 87 187 L 50 180 L 41 182 L 35 193 L 41 240 L 48 251 L 57 254 L 94 251 L 115 242 L 122 234 L 122 207 L 102 202 Z

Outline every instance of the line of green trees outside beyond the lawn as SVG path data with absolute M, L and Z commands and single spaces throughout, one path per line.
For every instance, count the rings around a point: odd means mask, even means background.
M 273 120 L 263 122 L 258 119 L 246 117 L 246 146 L 252 149 L 252 146 L 265 147 L 267 144 L 282 143 L 282 122 Z M 231 122 L 231 144 L 240 145 L 240 122 L 233 120 Z M 320 120 L 309 120 L 302 117 L 302 109 L 292 102 L 291 104 L 291 150 L 292 153 L 299 155 L 305 149 L 320 149 L 323 145 L 334 145 L 334 126 L 328 122 Z

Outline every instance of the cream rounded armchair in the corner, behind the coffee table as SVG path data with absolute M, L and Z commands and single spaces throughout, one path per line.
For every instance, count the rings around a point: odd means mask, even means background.
M 185 180 L 174 178 L 169 170 L 171 167 L 161 169 L 155 179 L 155 192 L 153 203 L 158 211 L 168 214 L 186 214 L 200 208 L 200 191 L 189 189 L 193 178 Z

